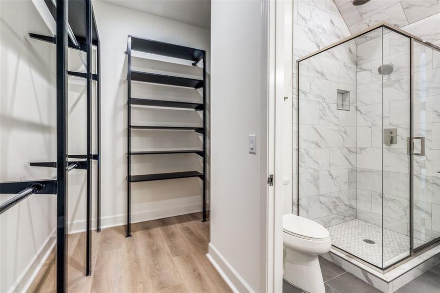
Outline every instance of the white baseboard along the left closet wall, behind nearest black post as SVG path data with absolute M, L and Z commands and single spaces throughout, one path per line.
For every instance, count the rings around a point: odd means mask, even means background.
M 49 237 L 47 237 L 46 241 L 44 241 L 43 245 L 40 247 L 39 251 L 35 254 L 34 258 L 29 262 L 26 269 L 21 273 L 20 277 L 14 283 L 14 285 L 9 290 L 9 293 L 12 292 L 26 292 L 37 276 L 38 272 L 40 272 L 44 262 L 49 256 L 50 252 L 54 249 L 55 244 L 57 243 L 57 235 L 56 228 L 52 230 Z

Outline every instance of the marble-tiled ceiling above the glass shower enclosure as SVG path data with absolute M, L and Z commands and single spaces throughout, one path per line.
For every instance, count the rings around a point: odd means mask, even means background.
M 352 0 L 334 1 L 352 34 L 379 21 L 403 27 L 440 12 L 439 0 L 370 0 L 360 6 Z

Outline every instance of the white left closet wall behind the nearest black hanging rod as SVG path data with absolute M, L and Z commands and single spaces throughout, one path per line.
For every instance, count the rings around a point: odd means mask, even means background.
M 32 1 L 0 1 L 0 181 L 44 179 L 56 158 L 55 46 Z M 1 194 L 0 201 L 12 197 Z M 0 216 L 0 292 L 21 292 L 55 244 L 56 195 L 32 195 Z

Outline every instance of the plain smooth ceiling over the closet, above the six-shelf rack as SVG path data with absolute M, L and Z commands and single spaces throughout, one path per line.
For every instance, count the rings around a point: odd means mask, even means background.
M 113 5 L 210 28 L 210 0 L 101 0 Z

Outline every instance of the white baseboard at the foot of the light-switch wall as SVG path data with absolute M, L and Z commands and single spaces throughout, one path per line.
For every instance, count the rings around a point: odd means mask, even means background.
M 251 287 L 211 243 L 209 244 L 209 253 L 206 256 L 234 293 L 253 293 Z

